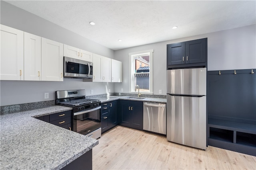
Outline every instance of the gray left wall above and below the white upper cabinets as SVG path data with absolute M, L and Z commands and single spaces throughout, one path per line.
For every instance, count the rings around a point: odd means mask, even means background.
M 90 41 L 72 31 L 68 31 L 50 21 L 34 14 L 0 1 L 1 24 L 14 27 L 28 33 L 39 35 L 54 41 L 68 44 L 92 53 L 109 58 L 114 57 L 114 51 L 94 41 Z M 110 89 L 114 92 L 114 83 L 82 82 L 82 79 L 66 79 L 63 82 L 36 81 L 0 81 L 0 106 L 54 100 L 57 90 L 86 89 L 94 94 L 105 94 Z M 49 99 L 44 99 L 44 93 L 49 93 Z M 93 94 L 93 95 L 94 95 Z

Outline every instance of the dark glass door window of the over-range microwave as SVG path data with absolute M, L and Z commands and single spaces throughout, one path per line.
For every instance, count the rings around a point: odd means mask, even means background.
M 92 66 L 90 66 L 92 69 Z M 66 62 L 66 72 L 75 74 L 88 74 L 89 68 L 86 64 Z

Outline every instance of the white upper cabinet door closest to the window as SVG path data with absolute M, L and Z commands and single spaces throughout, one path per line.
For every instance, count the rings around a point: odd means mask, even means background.
M 111 82 L 122 82 L 122 62 L 111 59 Z

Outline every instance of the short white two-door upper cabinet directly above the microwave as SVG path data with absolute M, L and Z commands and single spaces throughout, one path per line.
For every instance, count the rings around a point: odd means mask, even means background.
M 64 56 L 92 62 L 92 53 L 64 44 Z

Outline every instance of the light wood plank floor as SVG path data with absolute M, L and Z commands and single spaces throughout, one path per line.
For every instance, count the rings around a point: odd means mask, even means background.
M 208 146 L 195 149 L 166 137 L 122 126 L 104 133 L 92 149 L 93 170 L 255 170 L 256 157 Z

